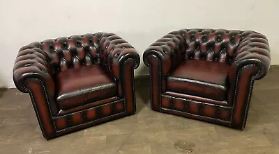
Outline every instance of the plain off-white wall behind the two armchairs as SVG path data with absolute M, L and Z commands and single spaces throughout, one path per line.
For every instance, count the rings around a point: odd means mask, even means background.
M 14 87 L 18 49 L 33 41 L 111 31 L 142 56 L 149 44 L 180 28 L 254 30 L 269 38 L 279 64 L 278 0 L 0 0 L 0 87 Z M 148 74 L 141 62 L 135 76 Z

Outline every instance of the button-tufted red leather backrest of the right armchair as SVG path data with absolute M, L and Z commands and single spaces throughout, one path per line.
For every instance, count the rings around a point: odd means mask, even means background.
M 186 42 L 186 59 L 232 63 L 236 49 L 249 31 L 224 29 L 183 29 L 181 36 Z

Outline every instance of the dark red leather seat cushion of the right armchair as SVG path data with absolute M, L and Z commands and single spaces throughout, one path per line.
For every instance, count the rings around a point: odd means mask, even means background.
M 229 65 L 205 60 L 186 60 L 167 76 L 172 92 L 224 101 L 227 96 Z

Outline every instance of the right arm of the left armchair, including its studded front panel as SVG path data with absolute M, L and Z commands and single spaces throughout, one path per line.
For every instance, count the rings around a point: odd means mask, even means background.
M 135 113 L 134 69 L 140 65 L 140 55 L 133 46 L 114 33 L 100 36 L 101 65 L 109 71 L 118 85 L 118 96 L 124 97 L 127 112 Z

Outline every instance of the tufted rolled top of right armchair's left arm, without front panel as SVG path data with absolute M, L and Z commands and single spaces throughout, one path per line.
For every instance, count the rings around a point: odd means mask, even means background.
M 183 60 L 183 53 L 185 53 L 185 40 L 179 34 L 179 31 L 173 31 L 163 36 L 144 51 L 144 64 L 150 66 L 148 57 L 155 55 L 164 67 L 162 67 L 163 74 L 167 75 L 169 70 Z

